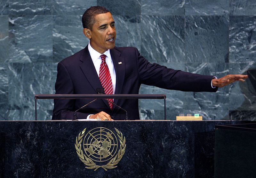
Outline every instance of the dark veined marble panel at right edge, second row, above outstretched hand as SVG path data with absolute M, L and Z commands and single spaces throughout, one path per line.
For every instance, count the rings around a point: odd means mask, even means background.
M 229 61 L 251 62 L 256 57 L 256 17 L 230 16 Z

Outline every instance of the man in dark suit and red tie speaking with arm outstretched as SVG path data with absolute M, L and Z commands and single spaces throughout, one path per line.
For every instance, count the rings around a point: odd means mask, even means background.
M 141 84 L 181 91 L 216 92 L 218 87 L 248 77 L 227 75 L 217 79 L 191 74 L 151 64 L 134 47 L 115 47 L 115 21 L 104 7 L 86 10 L 82 22 L 84 35 L 90 43 L 58 64 L 56 94 L 97 94 L 97 88 L 104 88 L 109 94 L 138 94 Z M 90 101 L 54 100 L 52 119 L 72 119 L 74 111 Z M 128 111 L 129 119 L 140 119 L 138 100 L 115 99 L 114 103 Z M 78 119 L 124 120 L 125 113 L 106 100 L 97 100 L 76 116 Z

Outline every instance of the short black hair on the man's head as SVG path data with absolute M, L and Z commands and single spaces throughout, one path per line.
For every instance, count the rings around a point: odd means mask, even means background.
M 82 17 L 82 23 L 84 28 L 92 30 L 92 25 L 95 23 L 95 16 L 99 14 L 108 13 L 108 9 L 102 6 L 92 6 L 87 9 Z

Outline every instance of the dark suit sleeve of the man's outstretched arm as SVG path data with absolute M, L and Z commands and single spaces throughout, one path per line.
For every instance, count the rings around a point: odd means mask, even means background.
M 218 87 L 212 88 L 211 75 L 199 75 L 172 68 L 166 68 L 156 63 L 149 63 L 135 48 L 137 68 L 141 83 L 164 89 L 194 92 L 216 92 Z

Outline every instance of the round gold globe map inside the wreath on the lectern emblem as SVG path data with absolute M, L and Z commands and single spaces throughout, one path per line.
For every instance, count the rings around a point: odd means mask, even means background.
M 92 160 L 104 162 L 116 155 L 118 142 L 116 135 L 109 129 L 97 127 L 84 137 L 84 153 Z

